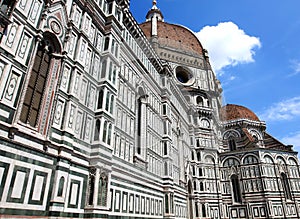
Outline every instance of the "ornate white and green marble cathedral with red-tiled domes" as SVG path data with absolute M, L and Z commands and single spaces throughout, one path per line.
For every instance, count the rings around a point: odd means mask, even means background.
M 0 0 L 0 218 L 300 218 L 297 152 L 148 2 Z

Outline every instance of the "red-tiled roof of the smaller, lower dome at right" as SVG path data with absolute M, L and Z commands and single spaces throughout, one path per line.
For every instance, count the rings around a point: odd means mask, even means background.
M 220 111 L 221 121 L 231 121 L 238 119 L 249 119 L 253 121 L 260 121 L 254 112 L 244 106 L 227 104 L 223 106 Z

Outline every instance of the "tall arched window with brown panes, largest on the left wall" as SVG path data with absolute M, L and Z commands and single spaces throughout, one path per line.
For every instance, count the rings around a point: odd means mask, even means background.
M 26 90 L 20 120 L 36 127 L 51 63 L 52 45 L 42 41 L 38 46 Z

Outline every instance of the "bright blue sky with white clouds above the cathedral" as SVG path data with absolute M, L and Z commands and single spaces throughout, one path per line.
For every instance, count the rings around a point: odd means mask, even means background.
M 131 0 L 145 21 L 152 0 Z M 224 89 L 266 121 L 267 131 L 300 151 L 300 1 L 158 0 L 165 22 L 181 24 L 208 49 Z

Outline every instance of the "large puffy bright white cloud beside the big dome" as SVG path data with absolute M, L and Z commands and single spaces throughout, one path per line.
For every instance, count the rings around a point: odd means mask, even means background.
M 232 22 L 206 26 L 196 36 L 208 50 L 211 64 L 218 74 L 227 66 L 254 62 L 254 49 L 261 47 L 259 38 L 247 35 Z

